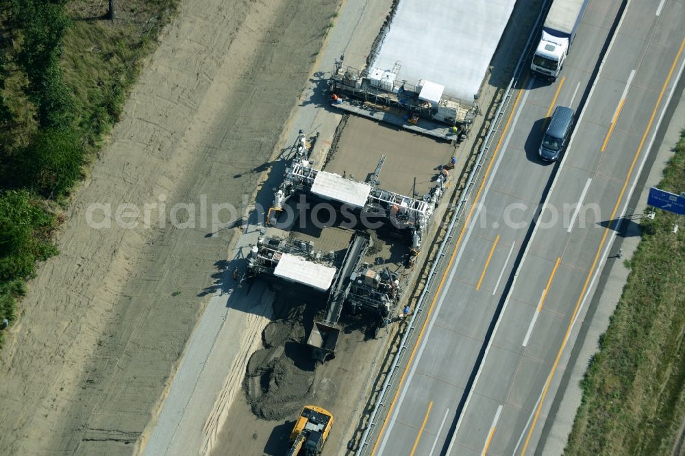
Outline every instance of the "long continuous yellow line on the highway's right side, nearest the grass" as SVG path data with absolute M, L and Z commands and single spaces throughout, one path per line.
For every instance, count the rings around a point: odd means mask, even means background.
M 654 106 L 654 110 L 651 112 L 651 116 L 649 117 L 649 123 L 647 123 L 647 128 L 645 128 L 645 133 L 642 136 L 642 139 L 640 140 L 640 145 L 638 146 L 638 150 L 635 152 L 635 155 L 633 157 L 633 161 L 630 164 L 630 169 L 628 170 L 628 175 L 625 177 L 625 181 L 623 181 L 623 188 L 621 188 L 621 193 L 619 194 L 619 199 L 616 200 L 616 205 L 614 205 L 614 211 L 612 212 L 611 216 L 609 217 L 609 220 L 614 220 L 614 216 L 616 216 L 616 212 L 619 210 L 619 204 L 621 203 L 621 199 L 623 199 L 623 194 L 625 193 L 625 189 L 628 186 L 628 181 L 630 181 L 630 177 L 633 173 L 633 170 L 635 168 L 635 164 L 638 161 L 638 157 L 640 156 L 640 151 L 642 151 L 643 146 L 645 145 L 645 140 L 647 139 L 647 134 L 649 134 L 649 129 L 651 129 L 651 125 L 654 122 L 654 116 L 656 116 L 656 111 L 659 109 L 659 105 L 661 103 L 661 99 L 664 97 L 664 92 L 666 92 L 666 88 L 669 85 L 669 81 L 671 81 L 671 76 L 673 76 L 673 70 L 675 69 L 675 65 L 677 64 L 678 60 L 680 60 L 680 55 L 682 54 L 683 47 L 685 47 L 685 38 L 683 38 L 682 42 L 680 43 L 680 49 L 678 49 L 677 54 L 675 55 L 675 60 L 673 60 L 673 64 L 671 65 L 671 70 L 669 71 L 669 75 L 666 78 L 666 81 L 664 81 L 664 86 L 661 88 L 661 92 L 659 93 L 659 98 L 656 100 L 656 105 Z M 590 283 L 590 277 L 593 275 L 593 271 L 595 270 L 595 266 L 597 266 L 597 261 L 599 260 L 599 255 L 601 255 L 601 249 L 604 246 L 604 242 L 606 242 L 606 237 L 609 233 L 611 225 L 608 225 L 606 229 L 604 229 L 604 235 L 601 238 L 601 242 L 599 243 L 599 249 L 597 249 L 597 253 L 595 254 L 595 260 L 593 261 L 593 266 L 590 268 L 588 272 L 588 277 L 585 279 L 585 283 L 583 285 L 583 290 L 580 293 L 580 296 L 578 296 L 578 300 L 575 303 L 575 309 L 573 309 L 573 314 L 571 315 L 571 320 L 569 321 L 569 326 L 566 327 L 566 333 L 564 334 L 564 340 L 562 340 L 561 347 L 559 351 L 557 352 L 556 359 L 554 359 L 554 364 L 552 365 L 551 371 L 549 372 L 549 376 L 547 377 L 547 383 L 545 383 L 545 388 L 543 388 L 543 394 L 540 396 L 540 403 L 538 404 L 538 408 L 535 411 L 535 416 L 533 418 L 533 422 L 530 425 L 530 429 L 528 430 L 528 435 L 525 438 L 525 444 L 523 444 L 523 450 L 521 451 L 521 456 L 525 455 L 525 451 L 528 448 L 528 444 L 530 443 L 530 437 L 533 434 L 533 430 L 535 429 L 535 425 L 538 422 L 538 417 L 540 416 L 540 410 L 543 408 L 543 403 L 545 402 L 545 396 L 547 396 L 547 390 L 549 390 L 549 383 L 551 383 L 551 379 L 554 376 L 554 372 L 556 372 L 556 368 L 559 364 L 559 359 L 561 357 L 562 352 L 564 351 L 564 347 L 566 347 L 566 342 L 569 340 L 569 334 L 571 333 L 571 327 L 573 326 L 573 320 L 575 320 L 575 315 L 578 312 L 578 308 L 580 307 L 580 303 L 583 301 L 583 296 L 588 288 L 588 283 Z

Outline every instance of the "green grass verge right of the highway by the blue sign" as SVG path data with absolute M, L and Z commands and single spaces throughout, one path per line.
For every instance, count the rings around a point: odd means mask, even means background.
M 658 188 L 685 190 L 685 130 Z M 566 455 L 681 454 L 685 418 L 685 226 L 640 222 L 621 300 L 582 380 Z M 679 443 L 680 442 L 680 443 Z

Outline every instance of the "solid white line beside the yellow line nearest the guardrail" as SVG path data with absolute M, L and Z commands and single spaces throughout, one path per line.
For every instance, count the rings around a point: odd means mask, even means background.
M 497 162 L 495 162 L 495 165 L 493 166 L 493 171 L 492 174 L 490 174 L 490 177 L 488 179 L 488 183 L 486 183 L 485 188 L 483 189 L 483 195 L 481 201 L 485 201 L 488 191 L 490 190 L 490 185 L 492 185 L 493 181 L 495 180 L 495 176 L 497 175 L 497 170 L 499 169 L 499 164 L 501 164 L 502 157 L 504 157 L 504 153 L 506 152 L 506 146 L 509 144 L 509 140 L 512 137 L 512 132 L 514 131 L 514 127 L 516 127 L 516 122 L 519 120 L 519 114 L 521 114 L 521 111 L 523 111 L 523 106 L 525 105 L 525 101 L 528 98 L 528 94 L 530 94 L 530 88 L 533 86 L 533 82 L 535 81 L 534 78 L 530 78 L 530 81 L 528 82 L 528 86 L 525 88 L 525 91 L 523 92 L 523 97 L 521 97 L 521 103 L 519 103 L 518 111 L 516 111 L 516 115 L 512 119 L 512 123 L 510 125 L 509 133 L 507 136 L 506 141 L 504 144 L 502 144 L 503 149 L 501 149 L 501 153 L 499 154 L 499 157 L 497 157 Z M 431 317 L 431 320 L 428 322 L 428 327 L 426 329 L 426 333 L 423 335 L 423 339 L 421 340 L 421 346 L 419 346 L 419 352 L 416 353 L 416 359 L 414 359 L 414 362 L 412 363 L 412 368 L 409 371 L 409 375 L 407 376 L 407 379 L 402 387 L 402 392 L 399 395 L 399 398 L 397 398 L 397 404 L 395 405 L 395 410 L 393 410 L 393 416 L 390 418 L 390 422 L 388 424 L 388 429 L 386 429 L 385 434 L 383 436 L 383 440 L 381 441 L 380 446 L 378 447 L 378 453 L 377 455 L 380 456 L 383 454 L 383 450 L 388 443 L 388 438 L 390 436 L 391 431 L 393 430 L 393 426 L 395 426 L 395 420 L 397 420 L 397 415 L 399 414 L 399 409 L 401 408 L 401 404 L 404 401 L 404 397 L 407 394 L 407 391 L 409 389 L 409 385 L 412 383 L 412 378 L 414 377 L 414 372 L 416 372 L 416 366 L 419 365 L 419 361 L 421 361 L 421 356 L 423 355 L 423 351 L 425 350 L 425 346 L 427 344 L 427 340 L 430 337 L 430 333 L 433 330 L 433 325 L 435 324 L 435 320 L 438 317 L 438 314 L 440 313 L 440 307 L 443 307 L 443 302 L 445 301 L 445 296 L 447 296 L 447 290 L 449 290 L 449 287 L 452 283 L 452 280 L 454 279 L 454 275 L 456 273 L 456 266 L 459 264 L 460 258 L 462 257 L 462 254 L 464 253 L 464 249 L 466 244 L 469 243 L 469 238 L 471 237 L 471 232 L 473 231 L 473 228 L 476 225 L 476 220 L 478 218 L 479 212 L 482 209 L 483 204 L 479 203 L 477 213 L 475 214 L 475 217 L 471 219 L 471 226 L 469 229 L 466 231 L 466 235 L 464 236 L 464 240 L 462 241 L 461 246 L 459 247 L 459 253 L 457 253 L 457 256 L 455 258 L 454 263 L 452 264 L 452 269 L 449 273 L 449 277 L 447 278 L 447 287 L 443 289 L 443 292 L 440 293 L 440 299 L 438 299 L 438 303 L 436 304 L 435 309 L 433 309 L 433 315 Z

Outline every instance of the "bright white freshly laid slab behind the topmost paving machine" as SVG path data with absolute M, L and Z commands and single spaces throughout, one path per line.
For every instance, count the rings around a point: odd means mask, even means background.
M 516 0 L 402 0 L 373 67 L 397 80 L 445 86 L 445 94 L 473 101 Z

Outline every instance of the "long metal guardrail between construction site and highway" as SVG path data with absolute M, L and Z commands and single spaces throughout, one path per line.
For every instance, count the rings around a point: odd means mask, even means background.
M 425 305 L 425 297 L 427 294 L 432 290 L 432 286 L 434 285 L 434 277 L 437 274 L 438 269 L 443 266 L 443 259 L 445 258 L 445 248 L 449 242 L 451 242 L 453 238 L 453 231 L 456 227 L 457 222 L 460 220 L 460 217 L 462 216 L 462 210 L 464 207 L 464 204 L 471 199 L 471 194 L 473 193 L 473 185 L 477 181 L 477 179 L 480 177 L 482 167 L 483 167 L 483 162 L 484 159 L 487 156 L 488 151 L 490 151 L 490 146 L 492 145 L 493 141 L 493 132 L 497 131 L 499 127 L 501 127 L 501 123 L 503 121 L 503 114 L 506 113 L 508 110 L 510 103 L 512 101 L 512 95 L 514 92 L 514 87 L 516 86 L 516 82 L 519 81 L 521 77 L 521 73 L 523 71 L 523 62 L 527 61 L 528 54 L 532 50 L 530 47 L 531 40 L 534 36 L 537 36 L 538 31 L 540 29 L 540 19 L 543 16 L 543 12 L 547 10 L 547 6 L 549 5 L 549 1 L 551 0 L 545 0 L 543 3 L 543 8 L 540 9 L 540 13 L 538 14 L 538 17 L 536 18 L 535 25 L 533 27 L 533 30 L 531 31 L 530 35 L 528 36 L 528 40 L 525 43 L 525 46 L 523 47 L 523 52 L 521 53 L 521 57 L 519 57 L 519 61 L 516 63 L 516 67 L 514 68 L 514 75 L 512 76 L 512 79 L 509 81 L 509 85 L 506 88 L 506 92 L 503 98 L 503 101 L 497 108 L 497 112 L 495 112 L 495 118 L 493 120 L 493 123 L 490 124 L 490 128 L 488 129 L 488 132 L 486 134 L 485 140 L 483 141 L 483 144 L 480 148 L 480 151 L 478 152 L 478 155 L 476 157 L 476 162 L 473 166 L 473 170 L 471 170 L 471 173 L 469 173 L 469 179 L 466 181 L 466 186 L 464 186 L 464 192 L 462 196 L 460 197 L 460 200 L 458 201 L 456 208 L 454 210 L 454 214 L 450 220 L 449 226 L 447 227 L 447 233 L 445 238 L 443 239 L 442 242 L 440 242 L 440 248 L 438 249 L 437 253 L 437 259 L 433 263 L 433 266 L 431 267 L 428 277 L 426 279 L 426 284 L 423 288 L 423 291 L 421 292 L 421 296 L 419 296 L 419 303 L 416 305 L 416 309 L 414 311 L 414 314 L 412 315 L 412 318 L 409 322 L 409 327 L 406 329 L 404 335 L 402 336 L 402 339 L 399 344 L 399 349 L 397 350 L 397 353 L 395 354 L 395 358 L 393 359 L 393 363 L 390 366 L 390 370 L 388 370 L 388 373 L 386 375 L 386 379 L 383 383 L 383 387 L 381 391 L 379 392 L 378 398 L 376 400 L 375 407 L 373 408 L 373 411 L 371 412 L 371 417 L 369 418 L 369 424 L 366 425 L 366 429 L 364 429 L 364 433 L 362 434 L 362 438 L 360 440 L 360 443 L 358 445 L 358 449 L 356 451 L 356 456 L 364 456 L 366 453 L 366 449 L 369 446 L 369 435 L 371 434 L 371 431 L 375 429 L 377 425 L 377 419 L 379 418 L 379 412 L 384 410 L 386 408 L 386 401 L 388 399 L 388 394 L 392 390 L 392 387 L 397 381 L 395 377 L 397 377 L 397 372 L 399 366 L 401 366 L 403 362 L 403 356 L 406 353 L 406 349 L 408 349 L 408 340 L 414 330 L 417 327 L 417 323 L 421 320 L 421 314 L 423 314 L 424 305 Z M 418 341 L 417 341 L 418 342 Z

